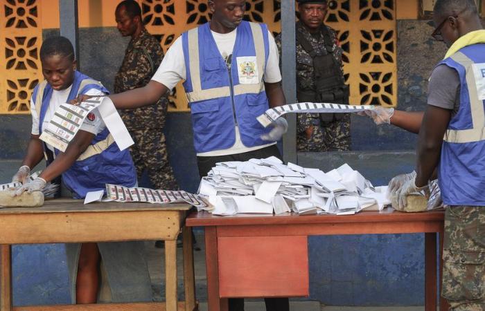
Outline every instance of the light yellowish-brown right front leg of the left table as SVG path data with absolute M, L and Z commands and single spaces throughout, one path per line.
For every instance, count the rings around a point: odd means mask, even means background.
M 177 311 L 177 240 L 164 242 L 166 310 Z

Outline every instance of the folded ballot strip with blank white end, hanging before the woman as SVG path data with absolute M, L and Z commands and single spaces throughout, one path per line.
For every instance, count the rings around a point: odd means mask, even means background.
M 51 121 L 48 122 L 44 131 L 42 131 L 40 139 L 62 152 L 66 151 L 69 142 L 78 133 L 82 122 L 96 108 L 120 150 L 124 150 L 134 144 L 112 100 L 107 96 L 91 97 L 89 100 L 81 102 L 78 106 L 67 103 L 60 105 Z

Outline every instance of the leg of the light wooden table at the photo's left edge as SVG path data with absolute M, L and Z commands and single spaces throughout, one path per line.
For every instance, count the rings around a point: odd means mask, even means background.
M 12 310 L 12 245 L 0 245 L 0 311 Z

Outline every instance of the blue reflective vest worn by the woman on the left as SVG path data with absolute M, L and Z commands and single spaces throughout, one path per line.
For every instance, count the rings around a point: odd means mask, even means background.
M 100 82 L 76 71 L 67 101 L 75 99 L 78 94 L 85 94 L 91 88 L 109 93 Z M 35 86 L 32 95 L 39 114 L 39 133 L 42 133 L 42 122 L 52 91 L 51 86 L 44 81 Z M 60 152 L 58 149 L 54 151 L 56 156 Z M 74 198 L 84 198 L 89 191 L 105 190 L 107 183 L 133 187 L 136 183 L 136 171 L 130 151 L 120 151 L 108 129 L 104 129 L 94 137 L 78 160 L 62 173 L 62 181 L 73 192 Z

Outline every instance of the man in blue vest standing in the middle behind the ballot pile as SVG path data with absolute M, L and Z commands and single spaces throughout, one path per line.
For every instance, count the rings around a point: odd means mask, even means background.
M 283 117 L 269 129 L 256 120 L 285 104 L 278 48 L 267 26 L 243 21 L 244 0 L 207 2 L 211 21 L 175 40 L 146 86 L 109 95 L 117 109 L 134 109 L 185 80 L 201 177 L 217 162 L 281 158 L 276 141 L 288 129 Z M 265 302 L 267 310 L 289 310 L 286 298 Z M 243 299 L 229 299 L 229 310 L 244 310 Z

